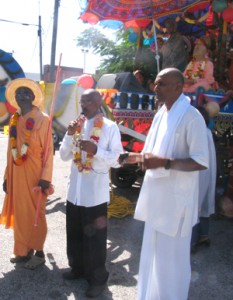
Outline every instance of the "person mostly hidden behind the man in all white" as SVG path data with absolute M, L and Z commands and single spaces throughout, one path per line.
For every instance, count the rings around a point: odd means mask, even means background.
M 209 115 L 204 107 L 198 107 L 202 114 L 207 131 L 209 168 L 199 172 L 199 198 L 198 214 L 199 223 L 193 227 L 191 239 L 191 252 L 196 253 L 200 246 L 209 246 L 209 217 L 215 211 L 215 187 L 216 187 L 216 151 L 211 130 L 208 128 Z

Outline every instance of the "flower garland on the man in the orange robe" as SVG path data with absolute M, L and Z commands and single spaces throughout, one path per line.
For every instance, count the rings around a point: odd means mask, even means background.
M 21 166 L 27 159 L 27 150 L 30 145 L 31 132 L 35 124 L 34 115 L 36 108 L 33 108 L 32 116 L 30 116 L 25 123 L 25 142 L 23 143 L 20 154 L 17 149 L 17 123 L 21 112 L 17 111 L 11 118 L 10 121 L 10 140 L 11 140 L 11 153 L 16 166 Z

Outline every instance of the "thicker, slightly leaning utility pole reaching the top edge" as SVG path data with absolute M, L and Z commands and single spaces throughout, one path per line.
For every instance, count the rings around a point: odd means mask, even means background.
M 57 24 L 58 24 L 58 8 L 60 0 L 55 0 L 54 3 L 54 19 L 53 19 L 53 37 L 51 48 L 51 61 L 50 61 L 50 82 L 55 81 L 55 57 L 56 57 L 56 43 L 57 43 Z

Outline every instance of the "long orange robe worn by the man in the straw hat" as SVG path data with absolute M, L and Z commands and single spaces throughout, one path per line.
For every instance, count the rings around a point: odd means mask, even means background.
M 17 148 L 20 151 L 25 141 L 25 122 L 30 113 L 20 116 L 17 124 Z M 35 215 L 38 193 L 33 192 L 40 179 L 51 182 L 53 168 L 53 140 L 48 137 L 49 117 L 39 109 L 34 117 L 35 125 L 31 133 L 27 160 L 21 165 L 13 163 L 11 141 L 8 142 L 7 167 L 4 178 L 7 180 L 7 194 L 0 216 L 0 224 L 14 229 L 14 254 L 24 256 L 30 249 L 43 250 L 47 234 L 45 217 L 46 196 L 43 194 L 38 226 Z M 42 170 L 42 159 L 48 139 L 48 158 Z

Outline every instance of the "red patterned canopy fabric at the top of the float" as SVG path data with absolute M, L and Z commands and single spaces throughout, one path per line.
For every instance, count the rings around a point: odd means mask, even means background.
M 158 19 L 202 10 L 210 0 L 89 0 L 80 18 L 90 24 L 103 20 L 127 22 Z

